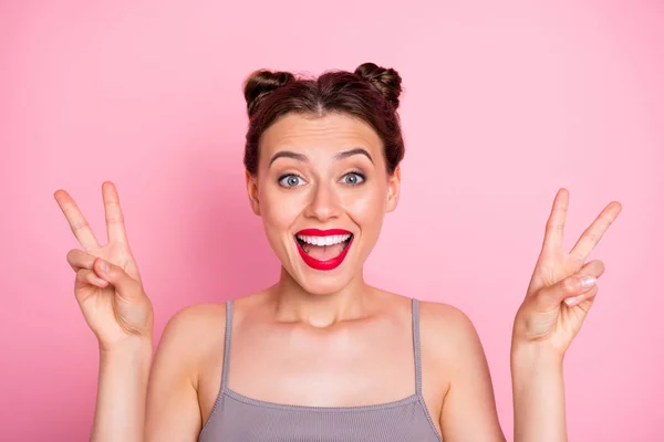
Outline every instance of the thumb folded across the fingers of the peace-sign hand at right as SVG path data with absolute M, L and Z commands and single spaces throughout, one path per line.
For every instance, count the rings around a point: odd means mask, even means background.
M 604 264 L 601 261 L 591 261 L 578 273 L 540 290 L 536 295 L 537 304 L 542 309 L 550 309 L 559 306 L 568 298 L 596 290 L 598 278 L 603 273 Z

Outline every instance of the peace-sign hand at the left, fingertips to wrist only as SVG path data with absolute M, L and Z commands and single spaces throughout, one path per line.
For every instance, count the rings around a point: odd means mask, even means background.
M 129 250 L 115 186 L 104 182 L 102 194 L 108 234 L 108 243 L 103 246 L 72 197 L 64 190 L 54 193 L 83 249 L 74 249 L 66 256 L 76 272 L 76 301 L 102 349 L 122 346 L 135 337 L 152 341 L 152 303 Z

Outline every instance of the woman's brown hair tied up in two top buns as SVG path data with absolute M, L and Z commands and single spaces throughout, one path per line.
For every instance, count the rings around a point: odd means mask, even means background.
M 395 70 L 374 63 L 364 63 L 354 73 L 326 72 L 317 80 L 295 78 L 290 72 L 253 72 L 245 83 L 249 115 L 247 171 L 258 172 L 260 137 L 280 117 L 290 113 L 324 116 L 335 112 L 360 118 L 374 128 L 383 141 L 387 173 L 393 175 L 404 157 L 396 113 L 401 82 Z

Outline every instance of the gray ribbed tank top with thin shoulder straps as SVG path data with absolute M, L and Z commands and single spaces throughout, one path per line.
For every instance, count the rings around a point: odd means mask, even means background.
M 232 301 L 226 305 L 221 388 L 199 442 L 442 442 L 422 396 L 419 308 L 413 299 L 415 393 L 387 403 L 308 407 L 247 398 L 228 389 Z

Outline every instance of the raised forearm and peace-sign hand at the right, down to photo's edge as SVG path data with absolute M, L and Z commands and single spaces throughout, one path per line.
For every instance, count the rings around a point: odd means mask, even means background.
M 562 248 L 569 192 L 560 189 L 512 329 L 515 442 L 567 442 L 562 361 L 580 332 L 604 273 L 589 254 L 622 210 L 608 204 L 573 248 Z

